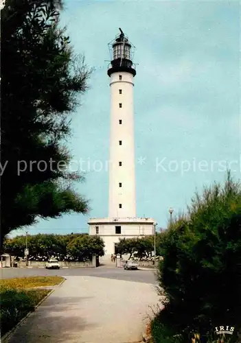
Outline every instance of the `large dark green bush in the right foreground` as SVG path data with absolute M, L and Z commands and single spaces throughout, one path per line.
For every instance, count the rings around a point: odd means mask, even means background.
M 206 342 L 218 325 L 241 327 L 241 187 L 230 173 L 223 187 L 196 193 L 187 215 L 174 220 L 163 258 L 159 281 L 168 302 L 161 320 L 181 333 L 181 342 L 195 331 Z

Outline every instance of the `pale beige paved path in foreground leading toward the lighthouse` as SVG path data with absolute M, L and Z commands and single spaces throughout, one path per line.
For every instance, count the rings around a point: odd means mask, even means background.
M 82 276 L 66 276 L 67 281 L 57 287 L 6 342 L 140 342 L 148 316 L 159 301 L 155 286 L 143 281 L 106 279 L 82 273 Z M 120 270 L 113 273 L 120 277 L 124 274 Z M 135 272 L 139 273 L 150 274 Z M 134 275 L 134 271 L 125 274 Z

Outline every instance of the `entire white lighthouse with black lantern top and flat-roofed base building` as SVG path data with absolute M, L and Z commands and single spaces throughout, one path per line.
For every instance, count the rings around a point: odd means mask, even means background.
M 90 235 L 104 239 L 108 258 L 119 238 L 153 235 L 154 220 L 137 217 L 133 88 L 133 45 L 122 29 L 111 44 L 108 76 L 111 89 L 108 217 L 89 220 Z

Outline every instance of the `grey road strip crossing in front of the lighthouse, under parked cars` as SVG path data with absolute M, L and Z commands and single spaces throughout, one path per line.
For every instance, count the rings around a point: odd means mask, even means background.
M 95 276 L 105 279 L 134 281 L 140 283 L 157 283 L 157 278 L 152 270 L 124 270 L 123 268 L 108 268 L 106 266 L 98 268 L 68 268 L 60 270 L 46 270 L 44 268 L 2 268 L 0 270 L 0 277 L 2 279 L 35 275 Z

